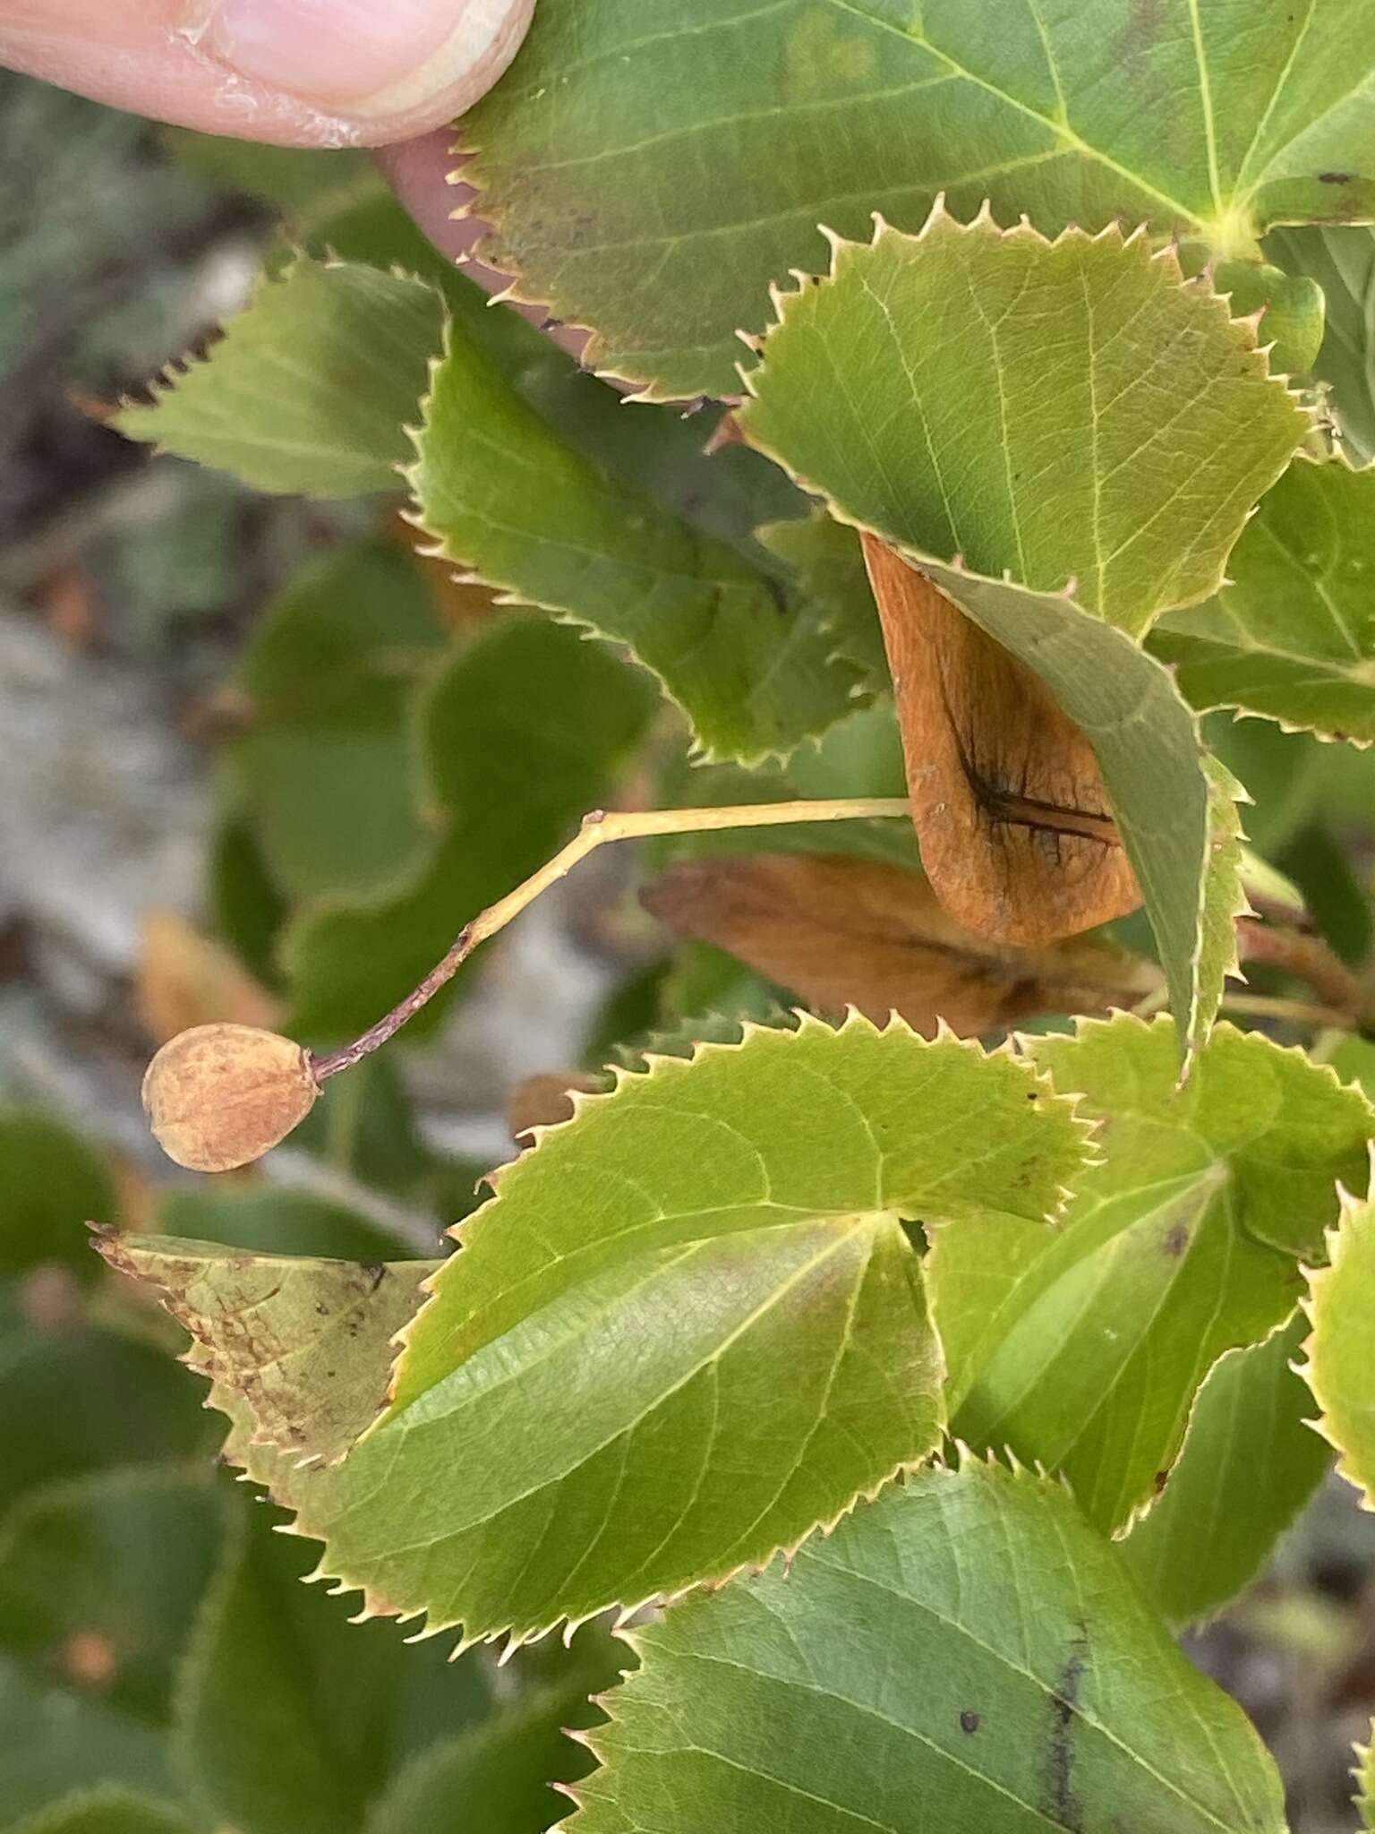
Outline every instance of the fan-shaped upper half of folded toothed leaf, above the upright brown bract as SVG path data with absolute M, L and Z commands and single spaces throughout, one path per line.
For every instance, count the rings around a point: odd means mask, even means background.
M 1144 238 L 1045 242 L 935 209 L 777 295 L 746 436 L 895 547 L 1140 636 L 1216 592 L 1309 414 L 1254 326 Z M 1162 411 L 1168 403 L 1168 411 Z

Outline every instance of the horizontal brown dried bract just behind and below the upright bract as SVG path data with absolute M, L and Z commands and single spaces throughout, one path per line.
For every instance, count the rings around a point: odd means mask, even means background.
M 669 867 L 645 906 L 680 935 L 728 948 L 808 1005 L 898 1012 L 961 1036 L 1038 1012 L 1107 1012 L 1160 985 L 1159 968 L 1091 939 L 992 946 L 961 930 L 918 875 L 845 855 L 757 853 Z

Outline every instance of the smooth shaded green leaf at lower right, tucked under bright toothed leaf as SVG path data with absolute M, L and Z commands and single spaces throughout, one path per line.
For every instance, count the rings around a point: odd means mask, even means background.
M 1258 1577 L 1331 1462 L 1291 1370 L 1302 1317 L 1250 1350 L 1228 1350 L 1199 1388 L 1164 1495 L 1120 1544 L 1170 1623 L 1210 1618 Z

